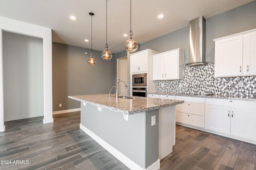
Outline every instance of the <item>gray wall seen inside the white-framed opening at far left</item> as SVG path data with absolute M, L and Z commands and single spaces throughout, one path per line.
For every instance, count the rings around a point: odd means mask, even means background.
M 3 31 L 4 120 L 44 115 L 43 40 Z

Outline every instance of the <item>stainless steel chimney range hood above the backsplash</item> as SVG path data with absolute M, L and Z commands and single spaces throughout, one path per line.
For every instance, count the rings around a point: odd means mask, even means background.
M 206 63 L 206 23 L 200 16 L 190 21 L 189 26 L 189 63 L 185 66 L 200 66 Z

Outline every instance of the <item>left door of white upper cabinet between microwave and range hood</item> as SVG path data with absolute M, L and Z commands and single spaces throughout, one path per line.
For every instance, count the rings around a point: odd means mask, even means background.
M 164 79 L 164 54 L 153 57 L 153 80 Z

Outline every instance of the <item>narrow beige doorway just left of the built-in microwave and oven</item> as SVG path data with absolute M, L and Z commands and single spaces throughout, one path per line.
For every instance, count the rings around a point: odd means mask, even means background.
M 117 59 L 117 81 L 124 80 L 126 85 L 128 86 L 128 67 L 127 67 L 127 56 Z M 118 94 L 120 96 L 127 96 L 128 95 L 128 88 L 125 88 L 123 85 L 118 86 Z

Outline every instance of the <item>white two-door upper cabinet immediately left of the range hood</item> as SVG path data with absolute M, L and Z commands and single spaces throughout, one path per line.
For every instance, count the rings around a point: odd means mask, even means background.
M 153 80 L 182 79 L 182 64 L 182 49 L 174 49 L 153 55 Z

